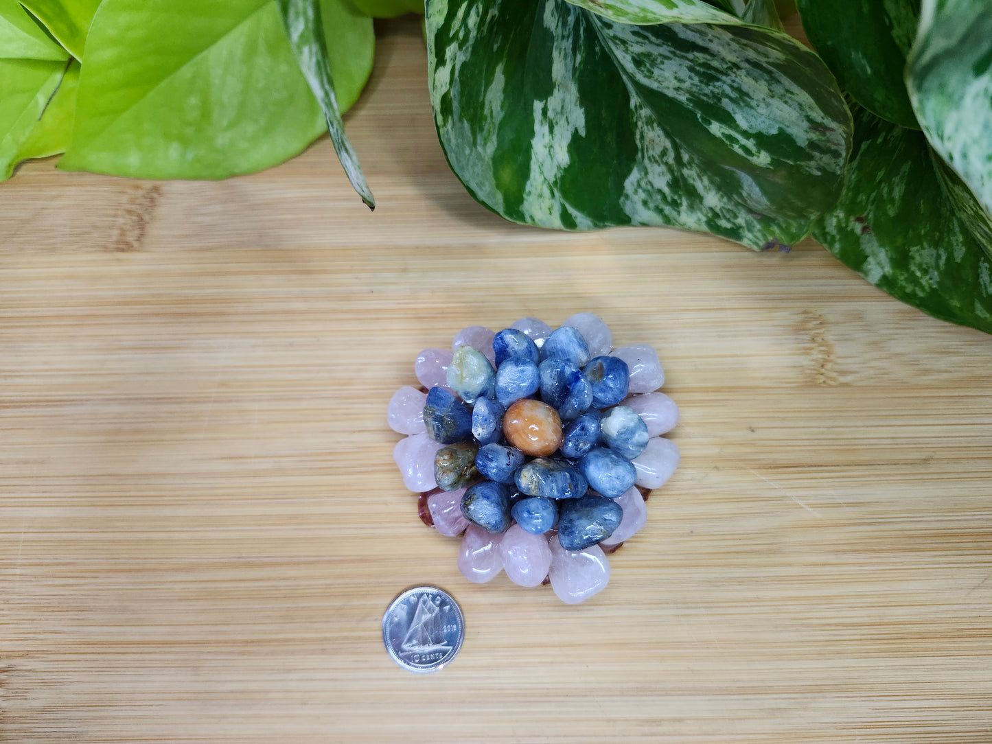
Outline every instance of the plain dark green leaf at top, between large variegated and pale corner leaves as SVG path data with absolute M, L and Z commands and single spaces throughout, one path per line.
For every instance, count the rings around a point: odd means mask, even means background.
M 840 87 L 875 115 L 919 129 L 903 70 L 920 0 L 798 0 L 798 5 L 809 43 Z

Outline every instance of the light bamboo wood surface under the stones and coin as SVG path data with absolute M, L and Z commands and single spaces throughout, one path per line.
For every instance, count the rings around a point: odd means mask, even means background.
M 415 23 L 348 129 L 216 184 L 0 186 L 0 740 L 992 742 L 992 339 L 812 243 L 563 234 L 475 204 Z M 609 587 L 475 586 L 385 407 L 464 325 L 654 344 L 682 466 Z M 382 612 L 465 613 L 438 675 Z

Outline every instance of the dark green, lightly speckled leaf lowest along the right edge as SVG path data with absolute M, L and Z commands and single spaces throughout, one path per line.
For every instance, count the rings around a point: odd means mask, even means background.
M 812 234 L 904 303 L 992 332 L 992 264 L 944 192 L 939 163 L 922 132 L 858 108 L 844 191 Z

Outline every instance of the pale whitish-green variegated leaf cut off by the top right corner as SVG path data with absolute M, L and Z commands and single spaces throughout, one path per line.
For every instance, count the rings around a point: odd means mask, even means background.
M 988 0 L 925 0 L 907 82 L 933 149 L 978 200 L 957 201 L 992 250 L 992 7 Z M 977 209 L 977 211 L 976 211 Z

